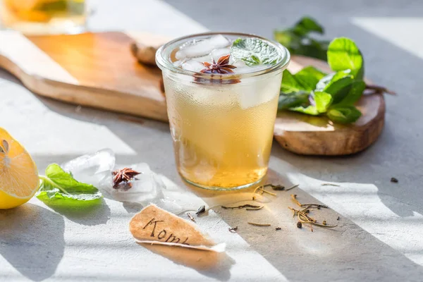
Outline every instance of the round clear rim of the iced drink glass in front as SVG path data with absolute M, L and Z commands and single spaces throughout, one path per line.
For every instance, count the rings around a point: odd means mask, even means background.
M 194 76 L 197 78 L 205 78 L 205 79 L 212 79 L 216 78 L 216 74 L 211 73 L 197 73 L 195 71 L 187 71 L 183 68 L 178 68 L 177 66 L 173 65 L 173 63 L 170 61 L 169 56 L 171 52 L 184 42 L 187 42 L 188 39 L 195 39 L 195 37 L 206 37 L 206 36 L 213 36 L 213 35 L 232 35 L 232 36 L 239 36 L 239 37 L 255 37 L 262 39 L 269 44 L 273 45 L 278 51 L 281 52 L 281 58 L 278 59 L 278 62 L 275 65 L 269 66 L 269 68 L 264 68 L 259 71 L 252 71 L 250 73 L 228 73 L 228 74 L 222 74 L 219 75 L 220 79 L 223 80 L 230 80 L 233 78 L 249 78 L 254 77 L 258 75 L 264 75 L 267 73 L 273 73 L 274 71 L 278 71 L 280 69 L 285 70 L 288 66 L 288 63 L 290 62 L 290 53 L 286 47 L 284 47 L 282 44 L 278 42 L 274 42 L 273 40 L 266 39 L 264 37 L 261 37 L 259 35 L 254 35 L 250 33 L 242 33 L 242 32 L 202 32 L 202 33 L 196 33 L 192 35 L 186 35 L 183 37 L 178 37 L 176 39 L 173 39 L 166 44 L 162 45 L 159 49 L 157 49 L 156 52 L 156 63 L 161 70 L 166 69 L 169 71 L 172 71 L 173 73 L 179 73 L 183 75 L 189 75 Z M 168 51 L 168 49 L 171 48 L 171 51 Z M 167 51 L 167 52 L 166 52 Z

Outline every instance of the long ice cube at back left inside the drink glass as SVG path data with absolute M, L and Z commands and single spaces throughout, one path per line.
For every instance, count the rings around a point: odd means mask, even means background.
M 214 35 L 208 39 L 200 40 L 195 44 L 189 44 L 186 47 L 182 47 L 179 51 L 176 52 L 176 59 L 195 58 L 199 56 L 205 56 L 210 54 L 213 49 L 219 49 L 223 47 L 228 47 L 231 42 L 229 42 L 226 37 L 223 35 Z

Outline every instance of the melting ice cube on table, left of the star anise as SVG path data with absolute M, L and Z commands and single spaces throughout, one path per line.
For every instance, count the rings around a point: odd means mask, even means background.
M 98 187 L 104 178 L 110 176 L 114 165 L 114 152 L 111 149 L 102 149 L 61 164 L 61 168 L 72 173 L 76 180 Z

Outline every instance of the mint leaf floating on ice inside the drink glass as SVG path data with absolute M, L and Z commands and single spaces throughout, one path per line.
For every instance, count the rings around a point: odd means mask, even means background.
M 245 61 L 247 66 L 274 65 L 280 56 L 275 47 L 253 37 L 236 39 L 231 46 L 231 55 L 233 59 Z

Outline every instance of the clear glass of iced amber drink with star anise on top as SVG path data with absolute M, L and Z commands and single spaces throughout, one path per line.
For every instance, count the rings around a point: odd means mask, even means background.
M 276 59 L 253 65 L 236 59 L 234 42 L 249 38 L 265 42 Z M 182 37 L 157 51 L 176 165 L 188 183 L 231 190 L 265 176 L 289 59 L 280 44 L 236 33 Z

